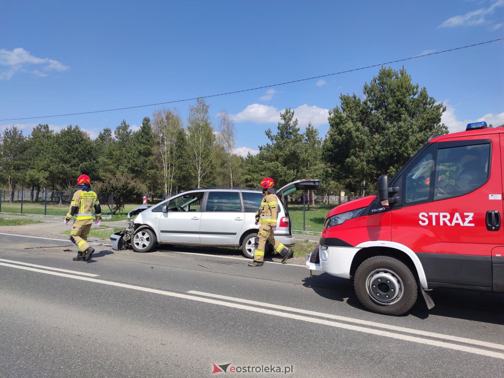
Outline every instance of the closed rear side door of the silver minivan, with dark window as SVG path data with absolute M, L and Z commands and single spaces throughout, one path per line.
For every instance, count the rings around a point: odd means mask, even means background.
M 239 191 L 210 191 L 201 215 L 200 241 L 215 245 L 234 244 L 244 221 Z

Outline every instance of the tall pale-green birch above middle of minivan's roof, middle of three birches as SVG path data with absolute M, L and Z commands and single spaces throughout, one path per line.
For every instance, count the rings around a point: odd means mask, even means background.
M 215 135 L 208 114 L 209 105 L 199 98 L 196 105 L 189 108 L 187 116 L 187 155 L 195 171 L 198 187 L 212 169 L 212 149 Z

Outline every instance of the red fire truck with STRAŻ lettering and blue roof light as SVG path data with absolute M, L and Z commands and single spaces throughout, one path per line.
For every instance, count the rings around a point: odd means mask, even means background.
M 377 196 L 331 210 L 306 268 L 352 279 L 369 310 L 400 315 L 420 292 L 463 288 L 504 292 L 501 227 L 504 128 L 470 123 L 437 135 Z

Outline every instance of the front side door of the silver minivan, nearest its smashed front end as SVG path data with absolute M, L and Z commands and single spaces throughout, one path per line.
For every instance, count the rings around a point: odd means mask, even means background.
M 162 242 L 199 243 L 201 205 L 205 192 L 182 194 L 159 206 L 159 235 Z M 163 211 L 163 207 L 165 207 Z

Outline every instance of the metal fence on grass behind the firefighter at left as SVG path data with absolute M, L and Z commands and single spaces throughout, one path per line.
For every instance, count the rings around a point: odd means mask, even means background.
M 65 216 L 74 192 L 65 191 L 6 191 L 0 190 L 0 213 L 43 216 Z M 99 194 L 102 215 L 110 215 L 114 194 Z

